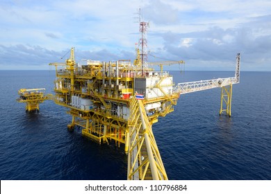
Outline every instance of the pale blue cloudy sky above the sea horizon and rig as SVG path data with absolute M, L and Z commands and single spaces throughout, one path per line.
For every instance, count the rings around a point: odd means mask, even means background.
M 65 62 L 72 47 L 76 62 L 133 61 L 139 8 L 149 21 L 150 62 L 234 71 L 240 53 L 241 70 L 271 71 L 270 0 L 1 0 L 0 70 L 49 69 L 50 62 Z

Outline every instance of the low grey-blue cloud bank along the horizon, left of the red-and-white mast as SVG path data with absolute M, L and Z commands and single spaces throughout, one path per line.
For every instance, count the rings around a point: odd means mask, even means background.
M 3 46 L 0 44 L 0 69 L 38 69 L 37 67 L 48 69 L 48 64 L 50 62 L 62 62 L 69 58 L 69 55 L 65 55 L 68 52 L 69 48 L 62 51 L 54 51 L 41 46 L 24 44 Z M 75 54 L 77 61 L 80 61 L 81 59 L 109 61 L 118 58 L 133 58 L 133 52 L 125 50 L 120 50 L 119 53 L 115 54 L 107 49 L 85 51 L 75 48 Z

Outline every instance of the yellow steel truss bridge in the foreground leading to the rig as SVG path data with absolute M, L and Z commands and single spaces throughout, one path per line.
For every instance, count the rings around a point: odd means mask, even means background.
M 131 100 L 127 179 L 167 180 L 142 100 Z

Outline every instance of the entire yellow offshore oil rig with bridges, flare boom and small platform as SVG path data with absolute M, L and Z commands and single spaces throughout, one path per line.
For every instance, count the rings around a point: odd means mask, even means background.
M 220 114 L 231 116 L 232 85 L 240 81 L 240 54 L 236 56 L 236 73 L 231 78 L 200 80 L 174 85 L 163 65 L 180 61 L 147 62 L 147 28 L 140 22 L 137 57 L 131 60 L 101 62 L 87 60 L 76 63 L 74 48 L 63 63 L 56 67 L 55 95 L 44 95 L 44 89 L 20 89 L 19 103 L 26 111 L 39 110 L 44 100 L 69 108 L 72 121 L 67 125 L 83 127 L 82 135 L 97 143 L 124 143 L 128 155 L 127 179 L 167 179 L 167 173 L 152 132 L 159 116 L 174 111 L 181 94 L 221 88 Z M 155 71 L 151 65 L 160 65 Z

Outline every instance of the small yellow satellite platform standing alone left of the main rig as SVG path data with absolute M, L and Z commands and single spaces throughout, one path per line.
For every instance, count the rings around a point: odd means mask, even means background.
M 40 103 L 47 100 L 47 96 L 44 96 L 42 91 L 45 91 L 45 89 L 19 89 L 19 98 L 17 98 L 17 102 L 26 103 L 26 112 L 39 111 Z

